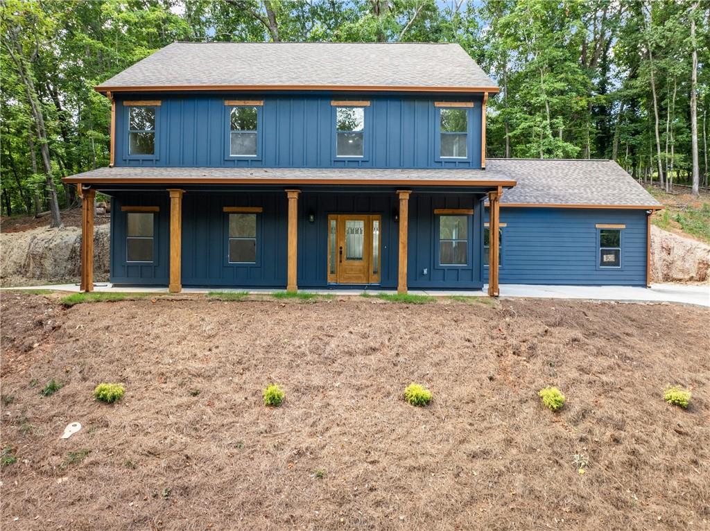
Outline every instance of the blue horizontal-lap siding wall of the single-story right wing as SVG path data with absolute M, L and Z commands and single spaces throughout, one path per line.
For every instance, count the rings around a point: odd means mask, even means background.
M 645 210 L 503 207 L 501 223 L 501 284 L 646 285 Z M 626 225 L 620 269 L 597 267 L 596 224 Z

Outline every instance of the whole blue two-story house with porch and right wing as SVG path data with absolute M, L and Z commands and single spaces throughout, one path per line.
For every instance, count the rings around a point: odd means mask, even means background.
M 645 285 L 660 208 L 608 160 L 486 160 L 498 87 L 455 44 L 174 43 L 97 87 L 111 283 Z

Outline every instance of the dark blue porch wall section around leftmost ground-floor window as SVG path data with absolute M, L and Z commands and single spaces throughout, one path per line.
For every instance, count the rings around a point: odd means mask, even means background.
M 126 262 L 126 212 L 121 207 L 158 207 L 153 225 L 153 263 Z M 111 198 L 111 272 L 114 284 L 168 285 L 170 200 L 168 192 L 119 194 Z

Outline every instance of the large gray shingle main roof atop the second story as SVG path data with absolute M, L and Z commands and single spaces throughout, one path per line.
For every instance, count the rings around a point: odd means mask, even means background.
M 97 88 L 208 86 L 496 89 L 458 44 L 421 43 L 173 43 Z

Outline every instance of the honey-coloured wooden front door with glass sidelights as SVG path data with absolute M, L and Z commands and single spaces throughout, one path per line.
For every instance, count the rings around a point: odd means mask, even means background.
M 381 218 L 373 214 L 328 216 L 328 282 L 380 281 Z

